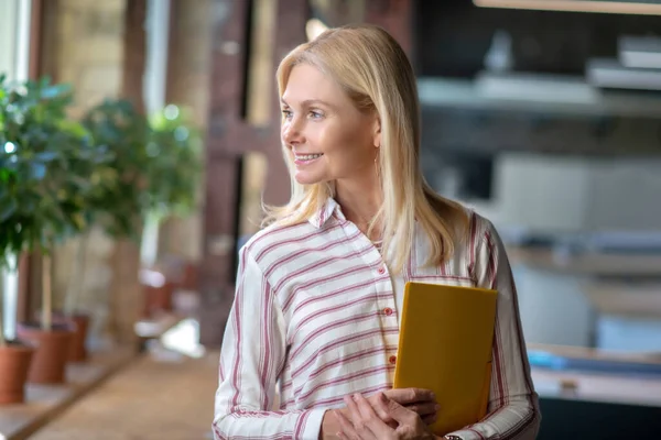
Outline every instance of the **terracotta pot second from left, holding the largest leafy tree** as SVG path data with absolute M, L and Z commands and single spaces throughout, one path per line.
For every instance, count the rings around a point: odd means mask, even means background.
M 28 382 L 34 384 L 62 384 L 65 382 L 66 363 L 74 336 L 72 323 L 53 322 L 51 331 L 44 331 L 39 323 L 18 326 L 19 338 L 36 344 Z

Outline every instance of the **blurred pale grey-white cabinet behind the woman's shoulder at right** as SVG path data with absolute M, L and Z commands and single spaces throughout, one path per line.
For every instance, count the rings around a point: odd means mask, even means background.
M 529 232 L 661 231 L 661 158 L 507 153 L 494 198 L 467 202 L 502 228 Z

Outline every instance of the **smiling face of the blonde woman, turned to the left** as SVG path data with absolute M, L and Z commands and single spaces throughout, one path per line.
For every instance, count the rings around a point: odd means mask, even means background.
M 375 172 L 378 118 L 360 112 L 335 80 L 314 66 L 297 65 L 281 101 L 282 142 L 294 154 L 297 183 L 353 179 Z

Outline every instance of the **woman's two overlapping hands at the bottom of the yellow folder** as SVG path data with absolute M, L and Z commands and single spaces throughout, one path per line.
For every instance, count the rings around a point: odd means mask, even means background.
M 423 440 L 434 439 L 418 413 L 379 393 L 369 402 L 359 394 L 346 396 L 349 417 L 342 411 L 335 413 L 340 426 L 338 437 L 347 440 Z M 375 407 L 372 407 L 372 404 Z M 398 426 L 384 422 L 377 413 L 388 414 Z

